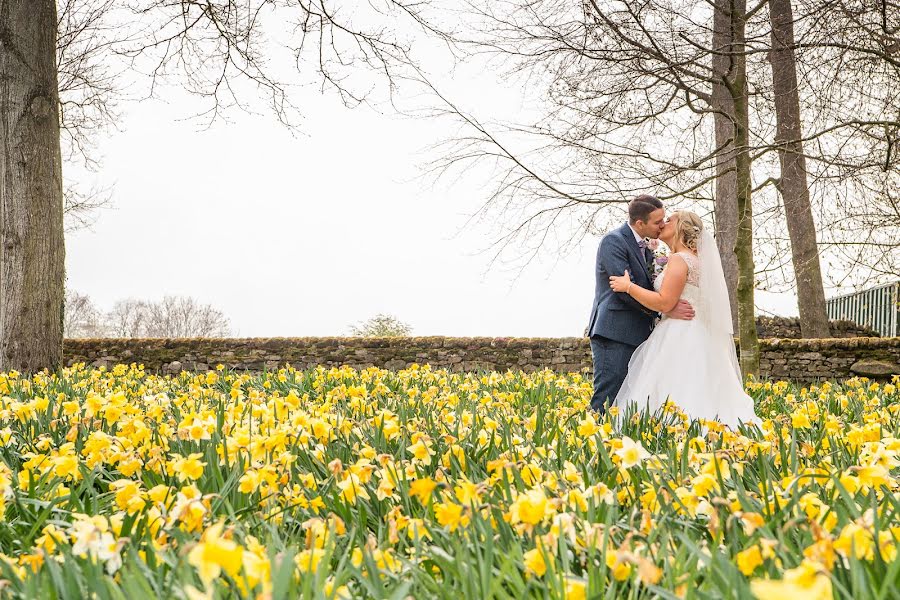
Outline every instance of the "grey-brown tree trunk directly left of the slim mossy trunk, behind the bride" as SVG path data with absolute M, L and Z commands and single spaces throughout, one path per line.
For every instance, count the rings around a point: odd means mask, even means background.
M 731 44 L 731 3 L 729 0 L 716 0 L 713 12 L 713 49 L 712 71 L 712 109 L 715 123 L 715 144 L 719 152 L 716 154 L 716 189 L 715 220 L 716 245 L 722 257 L 722 269 L 725 271 L 725 283 L 728 286 L 728 299 L 731 301 L 731 321 L 734 330 L 738 330 L 737 318 L 737 256 L 734 253 L 737 240 L 737 175 L 734 167 L 734 102 L 725 85 L 732 68 L 729 55 Z

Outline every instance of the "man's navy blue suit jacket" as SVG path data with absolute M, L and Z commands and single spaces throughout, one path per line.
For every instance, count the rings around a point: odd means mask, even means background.
M 603 236 L 597 248 L 597 280 L 588 336 L 599 335 L 630 346 L 639 346 L 650 337 L 657 313 L 624 292 L 612 291 L 609 277 L 624 275 L 627 269 L 635 285 L 652 290 L 648 271 L 652 261 L 653 253 L 641 250 L 628 223 Z

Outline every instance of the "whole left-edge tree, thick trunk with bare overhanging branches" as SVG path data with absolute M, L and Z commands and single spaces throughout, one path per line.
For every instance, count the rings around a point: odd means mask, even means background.
M 150 94 L 170 80 L 205 99 L 210 122 L 229 108 L 247 108 L 245 100 L 262 99 L 290 125 L 302 110 L 291 103 L 288 90 L 305 81 L 282 81 L 273 64 L 293 64 L 298 74 L 314 75 L 323 89 L 356 105 L 373 88 L 366 74 L 386 81 L 393 93 L 396 69 L 409 64 L 413 30 L 437 34 L 424 16 L 428 3 L 419 0 L 63 0 L 60 5 L 62 11 L 56 0 L 0 2 L 0 371 L 62 364 L 60 123 L 80 122 L 85 132 L 94 117 L 102 122 L 108 114 L 109 105 L 103 104 L 108 96 L 94 93 L 110 89 L 108 73 L 89 60 L 95 56 L 92 48 L 110 49 L 110 55 L 129 61 L 131 73 L 146 73 Z M 99 47 L 88 43 L 96 36 L 79 37 L 78 31 L 96 31 L 111 11 L 118 11 L 111 21 L 118 35 Z M 67 37 L 65 17 L 73 14 L 80 15 L 74 22 L 88 25 L 74 27 L 76 34 Z M 67 60 L 73 56 L 87 57 L 86 63 L 97 67 L 87 70 L 96 86 L 67 77 L 85 72 L 85 62 Z M 61 103 L 61 81 L 75 98 L 72 104 Z M 73 115 L 77 118 L 69 120 Z M 78 196 L 72 197 L 77 203 Z

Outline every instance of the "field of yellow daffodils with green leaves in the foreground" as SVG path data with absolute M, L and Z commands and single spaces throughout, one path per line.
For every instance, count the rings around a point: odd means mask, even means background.
M 733 432 L 550 371 L 2 374 L 0 596 L 898 598 L 898 383 Z

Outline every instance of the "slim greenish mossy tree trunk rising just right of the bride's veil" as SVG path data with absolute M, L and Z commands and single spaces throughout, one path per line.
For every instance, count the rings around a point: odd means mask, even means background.
M 753 183 L 750 176 L 750 106 L 747 86 L 746 34 L 747 0 L 731 0 L 731 35 L 734 65 L 725 83 L 734 103 L 734 166 L 737 189 L 738 226 L 734 252 L 737 255 L 738 331 L 743 374 L 759 372 L 759 338 L 756 332 L 755 284 L 753 264 Z

